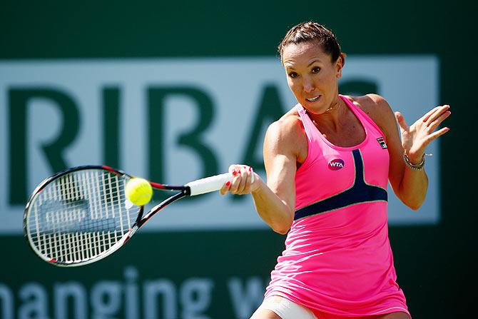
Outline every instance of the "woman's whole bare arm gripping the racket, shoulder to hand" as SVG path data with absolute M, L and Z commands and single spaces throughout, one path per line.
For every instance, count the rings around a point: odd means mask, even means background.
M 294 221 L 295 208 L 295 171 L 297 169 L 298 132 L 300 126 L 293 117 L 272 123 L 264 140 L 264 163 L 267 173 L 267 184 L 255 174 L 250 184 L 250 175 L 244 166 L 231 166 L 230 171 L 236 173 L 232 183 L 225 186 L 221 193 L 251 193 L 255 209 L 273 231 L 285 234 Z M 249 183 L 248 183 L 249 181 Z

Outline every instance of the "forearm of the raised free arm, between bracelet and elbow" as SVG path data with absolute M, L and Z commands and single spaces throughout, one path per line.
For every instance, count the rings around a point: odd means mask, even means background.
M 400 200 L 416 211 L 427 195 L 428 177 L 424 170 L 416 171 L 406 166 L 400 183 Z

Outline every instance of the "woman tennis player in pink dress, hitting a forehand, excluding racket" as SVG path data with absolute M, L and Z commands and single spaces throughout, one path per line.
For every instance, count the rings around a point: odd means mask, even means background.
M 315 22 L 290 29 L 279 52 L 298 104 L 265 135 L 267 185 L 235 165 L 221 189 L 251 193 L 260 217 L 288 233 L 252 318 L 411 318 L 388 239 L 387 181 L 407 206 L 422 205 L 424 152 L 449 131 L 436 130 L 449 106 L 408 126 L 382 96 L 340 95 L 345 54 Z

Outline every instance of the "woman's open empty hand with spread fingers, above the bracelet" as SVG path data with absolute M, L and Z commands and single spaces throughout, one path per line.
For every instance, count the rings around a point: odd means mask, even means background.
M 408 126 L 405 118 L 400 112 L 395 112 L 400 131 L 402 133 L 402 146 L 412 163 L 419 163 L 428 144 L 438 136 L 442 136 L 449 131 L 449 128 L 444 127 L 438 131 L 434 131 L 445 118 L 452 112 L 449 111 L 449 106 L 437 106 L 427 112 L 422 118 L 419 118 L 412 126 Z

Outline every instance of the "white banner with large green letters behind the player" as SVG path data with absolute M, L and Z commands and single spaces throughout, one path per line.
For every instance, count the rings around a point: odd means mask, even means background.
M 349 56 L 341 83 L 375 88 L 409 124 L 440 102 L 434 56 Z M 232 163 L 257 166 L 265 129 L 294 104 L 274 57 L 1 61 L 0 233 L 21 233 L 27 196 L 56 168 L 113 163 L 182 184 Z M 439 222 L 438 148 L 427 149 L 419 211 L 389 188 L 390 225 Z M 145 230 L 265 227 L 250 196 L 214 193 L 168 206 Z

